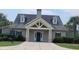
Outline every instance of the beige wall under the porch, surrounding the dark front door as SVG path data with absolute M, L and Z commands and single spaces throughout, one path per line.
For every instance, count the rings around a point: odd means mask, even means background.
M 35 32 L 40 31 L 43 33 L 43 42 L 48 42 L 48 31 L 47 30 L 29 30 L 29 41 L 35 42 Z

